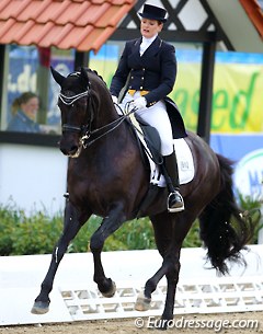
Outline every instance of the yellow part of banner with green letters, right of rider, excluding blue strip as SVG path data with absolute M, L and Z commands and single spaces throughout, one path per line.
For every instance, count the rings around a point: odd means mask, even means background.
M 180 64 L 171 97 L 178 103 L 188 129 L 198 115 L 201 65 Z M 263 66 L 216 64 L 211 131 L 225 134 L 263 131 Z

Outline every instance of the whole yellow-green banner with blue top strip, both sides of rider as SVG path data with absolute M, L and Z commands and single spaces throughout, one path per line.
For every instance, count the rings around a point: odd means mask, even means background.
M 185 59 L 187 55 L 188 59 Z M 178 78 L 171 99 L 178 104 L 186 128 L 195 131 L 198 118 L 201 53 L 178 53 Z M 254 56 L 254 57 L 252 57 Z M 222 58 L 222 61 L 221 61 Z M 117 59 L 91 59 L 110 85 Z M 215 65 L 211 133 L 263 133 L 263 56 L 219 53 Z

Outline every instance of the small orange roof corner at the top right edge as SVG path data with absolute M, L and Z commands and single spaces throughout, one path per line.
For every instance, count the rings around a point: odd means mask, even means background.
M 256 0 L 239 0 L 263 39 L 263 12 Z

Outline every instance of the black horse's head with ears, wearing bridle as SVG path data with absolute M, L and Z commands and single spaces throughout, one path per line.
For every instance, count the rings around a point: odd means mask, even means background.
M 64 77 L 52 68 L 52 74 L 61 88 L 58 96 L 62 127 L 60 150 L 68 157 L 77 158 L 93 118 L 88 72 L 81 68 L 81 71 Z

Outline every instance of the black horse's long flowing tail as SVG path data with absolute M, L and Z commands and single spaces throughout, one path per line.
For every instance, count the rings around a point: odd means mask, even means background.
M 199 217 L 201 239 L 207 247 L 207 257 L 213 267 L 228 273 L 226 261 L 241 262 L 240 251 L 253 235 L 253 224 L 241 214 L 232 189 L 232 162 L 217 154 L 221 185 L 219 194 L 206 206 Z

